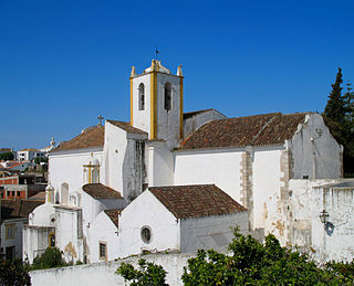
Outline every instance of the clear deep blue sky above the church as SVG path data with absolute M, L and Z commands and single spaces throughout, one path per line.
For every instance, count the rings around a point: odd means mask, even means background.
M 354 1 L 0 0 L 0 147 L 129 120 L 131 66 L 183 64 L 185 112 L 322 112 L 354 81 Z

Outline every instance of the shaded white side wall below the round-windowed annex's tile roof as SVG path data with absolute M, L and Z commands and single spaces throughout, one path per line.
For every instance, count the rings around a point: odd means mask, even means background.
M 232 241 L 232 231 L 239 226 L 241 232 L 248 231 L 248 212 L 225 215 L 212 215 L 180 220 L 180 251 L 196 252 L 199 248 L 226 251 Z

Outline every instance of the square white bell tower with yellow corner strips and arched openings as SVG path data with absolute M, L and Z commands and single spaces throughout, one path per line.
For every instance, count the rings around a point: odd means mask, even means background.
M 148 134 L 150 140 L 166 140 L 174 148 L 183 138 L 184 76 L 181 65 L 174 75 L 153 60 L 142 74 L 132 66 L 131 125 Z

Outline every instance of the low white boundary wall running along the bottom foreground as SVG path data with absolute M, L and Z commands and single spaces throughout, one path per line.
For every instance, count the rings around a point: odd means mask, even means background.
M 126 285 L 124 278 L 115 274 L 118 266 L 124 263 L 137 265 L 139 258 L 162 265 L 167 271 L 167 283 L 169 285 L 183 285 L 180 276 L 184 266 L 187 265 L 191 254 L 155 254 L 119 259 L 116 262 L 94 263 L 62 268 L 30 272 L 33 286 L 116 286 Z

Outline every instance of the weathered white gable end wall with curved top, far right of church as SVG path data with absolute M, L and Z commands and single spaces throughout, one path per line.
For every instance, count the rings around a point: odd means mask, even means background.
M 321 131 L 320 131 L 321 130 Z M 320 134 L 321 137 L 320 137 Z M 291 140 L 293 178 L 337 179 L 342 176 L 341 146 L 319 114 L 306 115 Z

